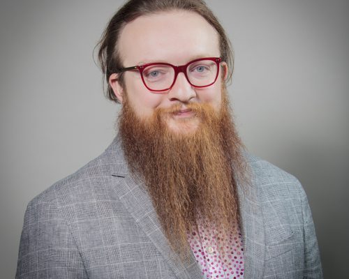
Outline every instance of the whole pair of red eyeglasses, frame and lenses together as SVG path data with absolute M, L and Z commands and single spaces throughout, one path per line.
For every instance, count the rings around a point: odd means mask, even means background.
M 144 86 L 150 91 L 163 92 L 172 88 L 179 73 L 184 73 L 186 80 L 194 87 L 207 87 L 216 82 L 219 73 L 220 57 L 195 59 L 182 66 L 170 63 L 147 63 L 140 66 L 121 68 L 117 73 L 127 70 L 139 70 Z

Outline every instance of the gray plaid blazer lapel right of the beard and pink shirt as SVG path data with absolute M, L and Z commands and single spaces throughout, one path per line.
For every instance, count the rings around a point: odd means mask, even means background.
M 254 186 L 239 186 L 238 195 L 244 245 L 244 278 L 263 278 L 265 233 L 258 193 Z

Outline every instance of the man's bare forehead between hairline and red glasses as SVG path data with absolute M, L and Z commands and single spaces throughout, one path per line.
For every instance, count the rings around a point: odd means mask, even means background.
M 184 10 L 155 13 L 126 24 L 119 36 L 124 66 L 165 61 L 175 65 L 220 56 L 218 33 L 204 17 Z

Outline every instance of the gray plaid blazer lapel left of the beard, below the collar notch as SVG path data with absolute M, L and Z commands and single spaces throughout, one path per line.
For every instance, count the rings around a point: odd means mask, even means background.
M 126 174 L 119 185 L 114 188 L 117 190 L 121 202 L 131 213 L 135 222 L 154 243 L 154 246 L 161 252 L 177 278 L 202 278 L 202 273 L 193 253 L 191 253 L 188 261 L 181 262 L 179 256 L 168 246 L 151 198 L 142 181 L 137 176 Z

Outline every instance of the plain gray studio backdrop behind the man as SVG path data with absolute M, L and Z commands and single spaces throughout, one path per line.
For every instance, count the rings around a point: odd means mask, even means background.
M 235 47 L 230 98 L 248 150 L 295 174 L 327 278 L 348 270 L 348 1 L 207 1 Z M 101 153 L 119 107 L 92 52 L 121 1 L 0 3 L 1 278 L 27 203 Z

